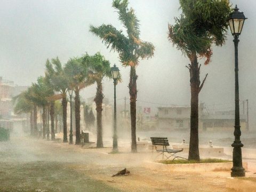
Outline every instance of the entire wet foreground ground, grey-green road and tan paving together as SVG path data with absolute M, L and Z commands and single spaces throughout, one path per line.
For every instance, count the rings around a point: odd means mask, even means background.
M 150 170 L 142 164 L 157 154 L 119 149 L 13 137 L 0 143 L 0 191 L 233 191 L 225 183 L 230 172 Z M 111 177 L 125 167 L 130 175 Z

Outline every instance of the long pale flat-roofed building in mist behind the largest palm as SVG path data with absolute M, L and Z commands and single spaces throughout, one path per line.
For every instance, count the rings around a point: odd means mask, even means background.
M 212 114 L 204 111 L 204 103 L 198 107 L 199 131 L 234 130 L 235 111 L 215 111 Z M 246 130 L 246 116 L 240 115 L 241 130 Z M 159 130 L 190 129 L 190 107 L 158 107 Z

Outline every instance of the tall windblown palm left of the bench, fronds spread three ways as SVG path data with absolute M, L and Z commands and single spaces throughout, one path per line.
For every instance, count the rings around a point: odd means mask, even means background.
M 119 53 L 122 65 L 130 66 L 130 111 L 131 111 L 131 135 L 133 153 L 137 152 L 136 143 L 136 100 L 137 100 L 137 78 L 136 67 L 139 59 L 148 59 L 154 55 L 155 47 L 149 42 L 140 39 L 139 20 L 132 8 L 128 9 L 127 0 L 114 0 L 112 6 L 117 10 L 118 19 L 126 28 L 127 36 L 122 30 L 117 30 L 112 25 L 90 26 L 90 31 L 99 36 L 107 47 Z

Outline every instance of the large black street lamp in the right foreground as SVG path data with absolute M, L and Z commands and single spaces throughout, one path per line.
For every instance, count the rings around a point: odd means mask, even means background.
M 242 150 L 244 146 L 240 140 L 240 117 L 239 117 L 239 85 L 238 85 L 238 42 L 239 35 L 241 34 L 244 20 L 247 19 L 243 12 L 239 12 L 237 5 L 234 12 L 230 13 L 228 22 L 232 35 L 234 36 L 235 44 L 235 141 L 232 143 L 233 147 L 233 167 L 231 169 L 231 177 L 244 177 L 245 172 L 242 165 Z

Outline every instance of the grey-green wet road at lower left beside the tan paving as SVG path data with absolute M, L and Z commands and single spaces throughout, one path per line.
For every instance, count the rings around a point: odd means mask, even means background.
M 90 170 L 99 154 L 81 154 L 51 143 L 26 137 L 1 142 L 0 191 L 120 191 L 86 174 L 84 169 Z

